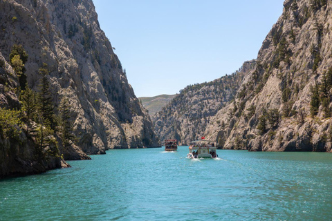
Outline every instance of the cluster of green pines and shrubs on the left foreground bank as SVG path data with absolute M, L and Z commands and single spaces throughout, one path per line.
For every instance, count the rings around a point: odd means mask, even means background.
M 0 108 L 0 136 L 4 139 L 19 142 L 19 136 L 24 133 L 28 139 L 35 142 L 39 157 L 46 155 L 59 156 L 56 137 L 61 137 L 63 145 L 68 146 L 75 141 L 73 135 L 73 122 L 71 122 L 68 99 L 63 97 L 59 110 L 50 93 L 48 69 L 46 64 L 39 68 L 40 83 L 35 92 L 26 84 L 23 64 L 28 59 L 28 54 L 23 46 L 13 46 L 10 60 L 19 82 L 24 82 L 25 87 L 19 85 L 19 102 L 17 109 Z M 21 68 L 19 68 L 21 66 Z M 55 117 L 55 111 L 60 117 Z

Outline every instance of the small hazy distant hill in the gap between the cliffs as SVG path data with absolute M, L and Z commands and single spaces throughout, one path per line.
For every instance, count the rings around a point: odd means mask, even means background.
M 142 105 L 149 111 L 149 115 L 153 116 L 166 106 L 176 95 L 158 95 L 155 97 L 138 97 Z

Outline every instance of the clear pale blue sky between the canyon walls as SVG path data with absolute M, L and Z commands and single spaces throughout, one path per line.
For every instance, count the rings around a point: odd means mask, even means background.
M 175 94 L 239 69 L 284 0 L 93 0 L 137 97 Z

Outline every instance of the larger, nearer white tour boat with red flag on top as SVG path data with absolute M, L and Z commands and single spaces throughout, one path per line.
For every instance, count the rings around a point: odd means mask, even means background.
M 216 158 L 216 145 L 213 141 L 209 140 L 196 140 L 190 142 L 189 153 L 187 158 Z

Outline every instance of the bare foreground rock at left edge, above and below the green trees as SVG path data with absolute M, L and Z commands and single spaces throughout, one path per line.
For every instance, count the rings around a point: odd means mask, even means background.
M 17 76 L 0 52 L 0 108 L 19 108 L 17 86 Z M 67 166 L 59 156 L 38 157 L 35 143 L 23 132 L 15 139 L 2 137 L 0 133 L 0 179 L 8 175 L 42 173 Z

